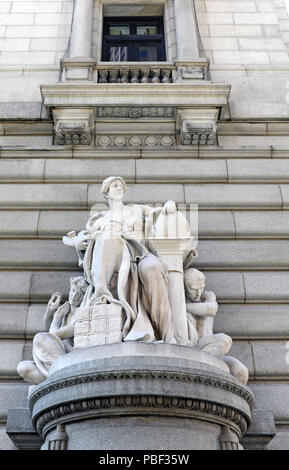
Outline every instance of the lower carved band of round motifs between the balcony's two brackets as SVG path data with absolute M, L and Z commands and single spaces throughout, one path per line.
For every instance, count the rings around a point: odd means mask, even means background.
M 176 144 L 175 135 L 100 135 L 95 138 L 95 145 L 100 147 L 172 147 Z

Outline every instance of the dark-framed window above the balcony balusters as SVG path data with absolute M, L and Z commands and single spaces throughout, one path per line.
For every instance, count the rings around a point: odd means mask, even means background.
M 102 60 L 166 60 L 163 18 L 104 18 Z

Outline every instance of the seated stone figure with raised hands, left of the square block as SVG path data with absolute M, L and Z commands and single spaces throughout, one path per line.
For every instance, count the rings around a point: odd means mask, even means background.
M 52 363 L 73 349 L 74 323 L 77 307 L 81 304 L 87 283 L 83 277 L 70 279 L 68 301 L 62 302 L 62 294 L 54 293 L 46 308 L 44 327 L 33 339 L 33 361 L 22 361 L 18 374 L 26 381 L 38 385 L 48 377 Z

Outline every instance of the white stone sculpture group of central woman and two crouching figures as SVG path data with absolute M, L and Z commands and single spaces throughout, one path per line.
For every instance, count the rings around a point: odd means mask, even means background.
M 222 358 L 240 381 L 247 368 L 227 356 L 232 340 L 214 334 L 218 304 L 205 292 L 205 276 L 193 268 L 196 250 L 186 218 L 173 201 L 163 207 L 125 205 L 126 183 L 107 178 L 108 210 L 93 214 L 84 230 L 63 242 L 76 249 L 83 277 L 71 279 L 69 300 L 53 294 L 45 329 L 33 340 L 33 361 L 18 365 L 34 384 L 72 349 L 129 341 L 195 347 Z

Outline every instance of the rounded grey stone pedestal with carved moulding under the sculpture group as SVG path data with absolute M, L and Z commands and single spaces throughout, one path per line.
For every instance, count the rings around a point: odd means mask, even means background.
M 214 450 L 240 447 L 253 396 L 210 354 L 121 343 L 62 356 L 29 404 L 43 450 Z

